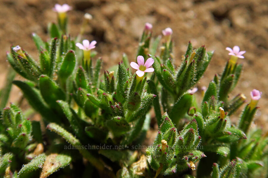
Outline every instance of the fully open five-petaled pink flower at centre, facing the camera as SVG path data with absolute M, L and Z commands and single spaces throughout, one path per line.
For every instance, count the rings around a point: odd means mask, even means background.
M 153 58 L 148 58 L 147 61 L 144 63 L 144 58 L 143 56 L 138 56 L 137 57 L 137 63 L 135 62 L 131 62 L 130 63 L 130 66 L 133 68 L 133 69 L 136 69 L 136 74 L 139 76 L 139 77 L 142 77 L 144 76 L 144 73 L 145 72 L 153 72 L 155 71 L 154 68 L 150 68 L 150 66 L 152 66 L 152 64 L 155 62 L 153 60 Z

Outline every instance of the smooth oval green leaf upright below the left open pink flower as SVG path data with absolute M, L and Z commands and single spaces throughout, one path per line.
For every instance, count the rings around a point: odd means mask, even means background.
M 70 50 L 68 51 L 68 53 L 66 53 L 63 62 L 60 66 L 59 76 L 63 79 L 66 79 L 72 74 L 74 67 L 75 67 L 75 54 L 73 50 Z

